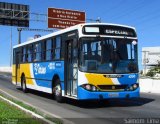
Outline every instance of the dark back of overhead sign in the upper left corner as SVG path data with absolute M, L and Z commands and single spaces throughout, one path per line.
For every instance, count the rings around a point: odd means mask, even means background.
M 0 25 L 29 27 L 29 6 L 0 2 Z

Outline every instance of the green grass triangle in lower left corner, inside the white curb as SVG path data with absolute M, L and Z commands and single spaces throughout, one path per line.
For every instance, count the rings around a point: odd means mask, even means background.
M 0 99 L 0 122 L 18 124 L 42 124 L 41 120 L 33 118 L 22 110 Z

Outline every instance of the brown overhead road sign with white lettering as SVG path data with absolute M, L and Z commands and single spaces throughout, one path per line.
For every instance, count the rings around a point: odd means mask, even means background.
M 64 29 L 85 23 L 85 12 L 48 8 L 48 28 Z

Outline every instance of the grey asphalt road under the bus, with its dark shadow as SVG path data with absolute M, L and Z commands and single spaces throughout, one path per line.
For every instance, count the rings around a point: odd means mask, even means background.
M 28 103 L 47 114 L 78 124 L 158 123 L 160 124 L 160 94 L 141 93 L 139 99 L 86 101 L 66 99 L 57 103 L 51 95 L 30 90 L 23 93 L 9 78 L 0 74 L 0 90 Z M 152 119 L 152 120 L 148 120 Z

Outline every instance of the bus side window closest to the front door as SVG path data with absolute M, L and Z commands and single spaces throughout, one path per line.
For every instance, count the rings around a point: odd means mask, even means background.
M 55 42 L 55 59 L 60 59 L 60 53 L 61 53 L 61 37 L 56 37 Z

